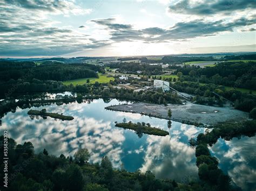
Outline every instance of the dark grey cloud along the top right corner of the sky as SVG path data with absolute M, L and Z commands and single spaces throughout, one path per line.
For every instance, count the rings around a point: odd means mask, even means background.
M 191 5 L 190 0 L 183 0 L 169 6 L 169 12 L 187 15 L 214 15 L 217 13 L 230 14 L 233 11 L 243 11 L 247 8 L 255 9 L 255 0 L 218 0 L 204 1 Z

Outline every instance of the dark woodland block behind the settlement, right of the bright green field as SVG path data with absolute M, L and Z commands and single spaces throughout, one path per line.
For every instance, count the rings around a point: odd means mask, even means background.
M 140 71 L 142 75 L 159 75 L 162 74 L 161 65 L 149 65 L 146 63 L 122 62 L 110 63 L 107 65 L 110 68 L 119 68 L 121 73 L 137 74 Z

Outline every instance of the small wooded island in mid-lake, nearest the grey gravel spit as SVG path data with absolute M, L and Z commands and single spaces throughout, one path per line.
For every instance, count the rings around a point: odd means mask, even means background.
M 150 126 L 149 123 L 145 124 L 144 122 L 142 122 L 142 123 L 132 123 L 132 122 L 117 123 L 116 126 L 119 128 L 134 130 L 134 131 L 136 131 L 136 133 L 138 135 L 142 134 L 142 133 L 146 133 L 148 135 L 157 135 L 157 136 L 169 135 L 169 132 L 158 129 L 158 128 L 153 128 Z

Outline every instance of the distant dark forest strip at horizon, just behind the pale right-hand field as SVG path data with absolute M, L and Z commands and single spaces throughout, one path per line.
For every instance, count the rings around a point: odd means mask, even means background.
M 161 61 L 164 63 L 181 64 L 191 61 L 214 61 L 213 56 L 164 56 Z

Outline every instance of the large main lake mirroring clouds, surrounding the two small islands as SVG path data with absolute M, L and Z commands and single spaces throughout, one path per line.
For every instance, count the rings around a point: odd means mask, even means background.
M 3 117 L 2 128 L 9 130 L 9 136 L 18 143 L 30 141 L 36 152 L 44 148 L 50 154 L 61 153 L 73 155 L 78 148 L 86 147 L 91 153 L 91 162 L 99 162 L 107 155 L 114 167 L 124 166 L 127 171 L 152 171 L 158 178 L 172 178 L 187 182 L 196 177 L 198 169 L 194 150 L 188 146 L 188 139 L 196 137 L 204 129 L 192 125 L 172 122 L 172 128 L 167 128 L 167 120 L 150 118 L 140 114 L 109 111 L 108 105 L 126 103 L 111 100 L 105 103 L 102 99 L 91 103 L 70 103 L 63 105 L 46 105 L 48 112 L 63 113 L 73 116 L 72 121 L 61 121 L 48 117 L 31 119 L 29 109 L 17 108 L 13 114 L 9 112 Z M 146 122 L 151 126 L 169 131 L 170 136 L 160 137 L 143 135 L 138 138 L 131 130 L 116 128 L 114 122 L 127 121 Z

